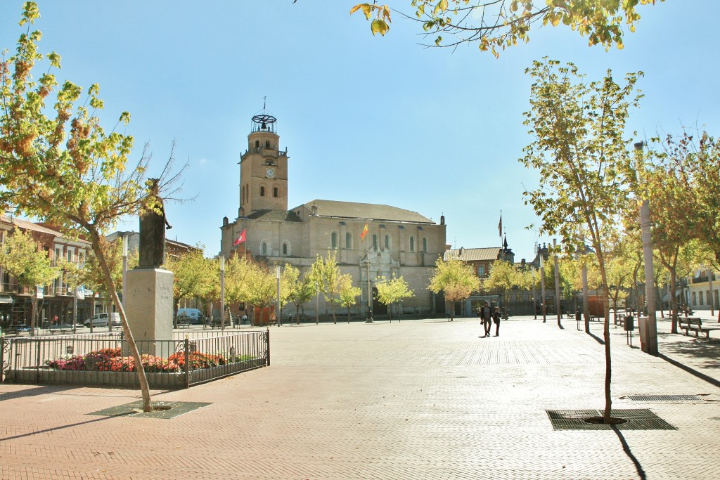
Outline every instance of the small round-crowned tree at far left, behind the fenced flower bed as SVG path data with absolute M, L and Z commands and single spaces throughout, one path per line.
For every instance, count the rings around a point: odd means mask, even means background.
M 0 244 L 0 265 L 17 279 L 17 283 L 32 292 L 32 320 L 30 335 L 35 335 L 40 291 L 60 276 L 60 268 L 53 266 L 48 253 L 32 239 L 31 234 L 19 228 Z

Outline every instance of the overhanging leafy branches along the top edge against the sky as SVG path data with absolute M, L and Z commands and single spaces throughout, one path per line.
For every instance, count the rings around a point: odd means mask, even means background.
M 401 17 L 422 25 L 425 35 L 434 36 L 436 47 L 457 47 L 477 43 L 481 51 L 498 50 L 527 43 L 529 32 L 536 25 L 566 25 L 588 37 L 588 45 L 603 45 L 606 50 L 623 47 L 623 24 L 635 31 L 640 14 L 638 4 L 654 4 L 656 0 L 411 0 L 414 14 L 397 12 Z M 664 1 L 664 0 L 660 0 Z M 370 20 L 372 35 L 385 35 L 390 30 L 391 8 L 387 5 L 357 4 L 350 14 L 361 11 Z M 374 19 L 373 19 L 374 17 Z M 447 42 L 443 35 L 452 38 Z M 429 46 L 429 45 L 428 45 Z

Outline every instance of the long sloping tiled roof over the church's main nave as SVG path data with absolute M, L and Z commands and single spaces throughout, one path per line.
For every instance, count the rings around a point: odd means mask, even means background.
M 315 199 L 308 201 L 303 206 L 307 209 L 317 207 L 318 215 L 321 217 L 435 224 L 435 222 L 431 219 L 420 215 L 418 212 L 392 207 L 391 205 L 361 204 L 353 201 Z

